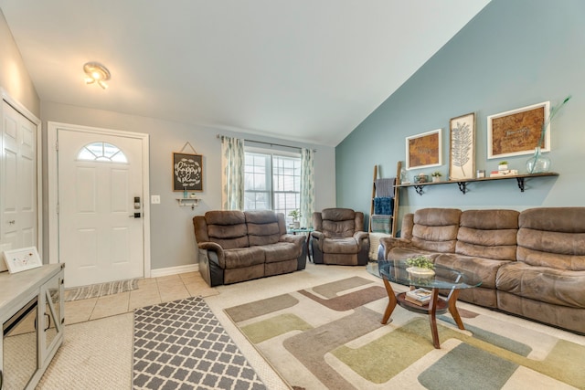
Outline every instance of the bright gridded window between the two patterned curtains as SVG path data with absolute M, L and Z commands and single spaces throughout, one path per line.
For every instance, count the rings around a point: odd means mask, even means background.
M 245 153 L 246 210 L 274 210 L 289 215 L 301 206 L 301 157 L 298 155 Z

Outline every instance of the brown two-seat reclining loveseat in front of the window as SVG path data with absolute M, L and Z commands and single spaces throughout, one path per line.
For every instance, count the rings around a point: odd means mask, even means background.
M 193 217 L 199 272 L 211 287 L 304 269 L 304 235 L 287 234 L 284 215 L 208 211 Z

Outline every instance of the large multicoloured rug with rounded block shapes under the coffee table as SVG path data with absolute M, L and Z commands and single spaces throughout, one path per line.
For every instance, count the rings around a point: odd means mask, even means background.
M 382 325 L 387 304 L 356 276 L 225 312 L 295 389 L 585 389 L 585 338 L 466 305 L 464 331 L 437 318 L 435 349 L 426 315 L 397 306 Z

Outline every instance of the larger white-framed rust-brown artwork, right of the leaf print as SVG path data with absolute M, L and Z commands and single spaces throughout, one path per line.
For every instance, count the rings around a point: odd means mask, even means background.
M 487 158 L 534 153 L 547 121 L 550 102 L 534 104 L 487 117 Z M 549 126 L 549 125 L 548 125 Z M 543 152 L 550 151 L 550 129 L 546 130 Z

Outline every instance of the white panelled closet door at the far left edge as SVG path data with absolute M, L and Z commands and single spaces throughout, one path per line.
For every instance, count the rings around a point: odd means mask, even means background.
M 37 247 L 37 126 L 2 104 L 0 244 Z

